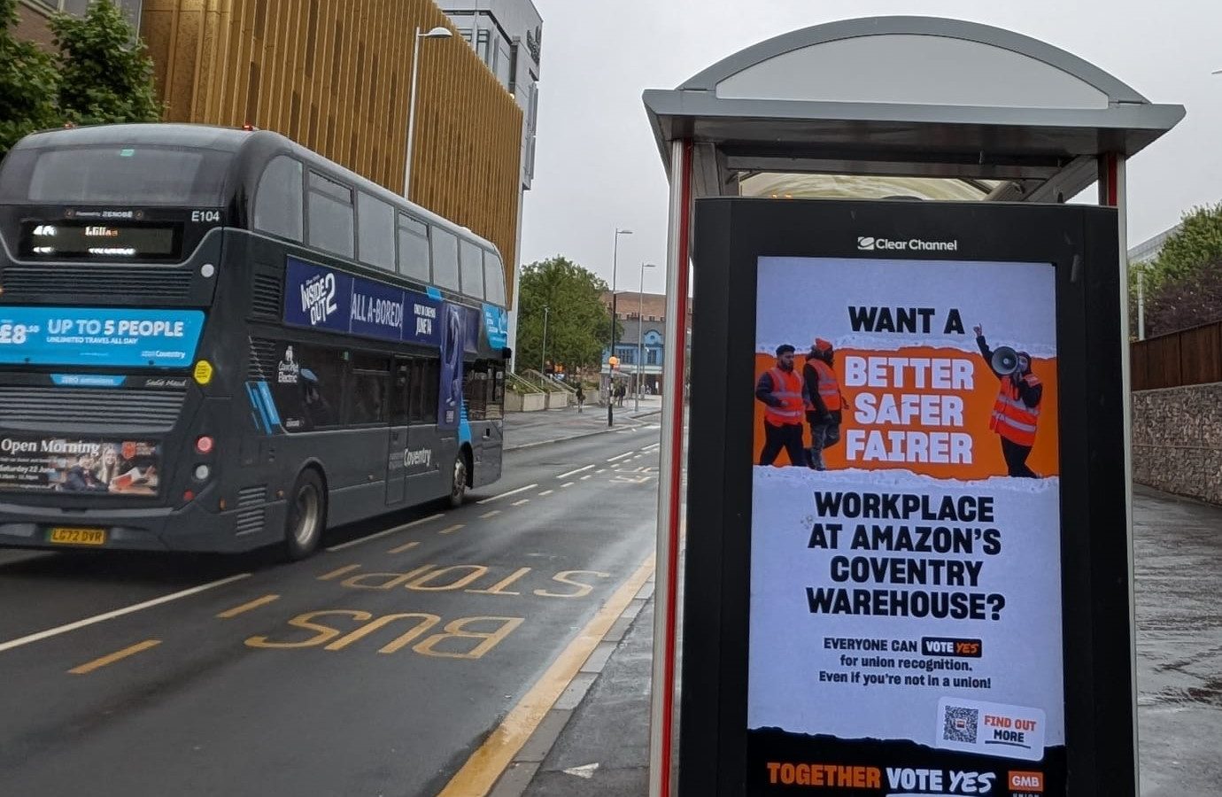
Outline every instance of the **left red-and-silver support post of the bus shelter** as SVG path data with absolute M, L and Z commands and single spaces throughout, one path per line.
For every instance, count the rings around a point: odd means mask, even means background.
M 675 678 L 678 617 L 687 296 L 692 220 L 692 142 L 671 142 L 670 230 L 666 240 L 666 339 L 662 445 L 657 485 L 654 578 L 654 665 L 649 721 L 649 795 L 670 797 L 673 784 Z M 661 655 L 659 655 L 661 654 Z

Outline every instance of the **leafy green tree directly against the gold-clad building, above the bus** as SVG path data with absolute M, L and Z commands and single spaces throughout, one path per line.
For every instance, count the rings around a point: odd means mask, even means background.
M 161 119 L 148 49 L 112 0 L 94 0 L 83 17 L 55 15 L 51 32 L 60 48 L 59 105 L 65 121 L 106 125 Z

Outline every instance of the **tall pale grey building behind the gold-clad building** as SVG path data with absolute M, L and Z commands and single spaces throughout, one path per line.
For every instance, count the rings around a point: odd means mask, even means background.
M 437 5 L 522 109 L 522 189 L 518 192 L 518 236 L 513 253 L 513 262 L 521 269 L 523 198 L 534 180 L 543 17 L 530 0 L 437 0 Z M 519 282 L 513 280 L 511 347 L 518 334 Z

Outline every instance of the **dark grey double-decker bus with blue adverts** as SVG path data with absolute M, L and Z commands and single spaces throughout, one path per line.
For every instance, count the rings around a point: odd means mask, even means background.
M 496 248 L 266 131 L 0 165 L 0 546 L 313 553 L 500 478 Z

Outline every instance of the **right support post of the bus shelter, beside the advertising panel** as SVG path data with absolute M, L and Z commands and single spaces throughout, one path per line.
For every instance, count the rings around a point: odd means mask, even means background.
M 1129 347 L 1129 244 L 1128 244 L 1128 189 L 1125 187 L 1125 165 L 1128 160 L 1121 153 L 1106 153 L 1099 156 L 1099 204 L 1116 208 L 1119 231 L 1121 270 L 1121 389 L 1124 407 L 1124 533 L 1128 540 L 1129 557 L 1129 628 L 1136 628 L 1136 605 L 1133 593 L 1133 357 Z M 1138 715 L 1138 652 L 1136 645 L 1129 650 L 1129 672 L 1132 672 L 1133 718 Z M 1133 749 L 1138 747 L 1138 724 L 1133 722 Z M 1133 757 L 1133 793 L 1140 792 L 1140 764 Z

